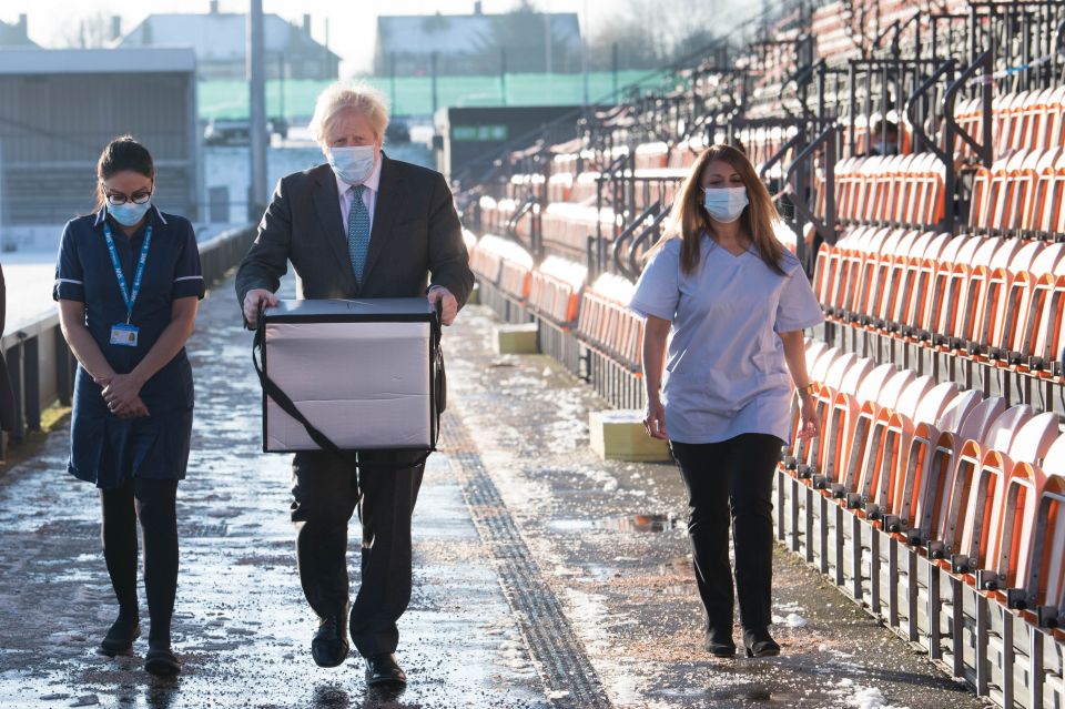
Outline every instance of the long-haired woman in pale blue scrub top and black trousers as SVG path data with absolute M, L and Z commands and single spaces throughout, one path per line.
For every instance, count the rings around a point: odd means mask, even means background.
M 629 304 L 647 318 L 643 423 L 669 440 L 688 488 L 707 650 L 736 655 L 731 520 L 743 646 L 748 657 L 779 655 L 769 634 L 771 492 L 793 387 L 799 435 L 820 433 L 803 330 L 821 323 L 821 306 L 799 260 L 774 236 L 777 209 L 739 150 L 703 152 L 671 216 Z

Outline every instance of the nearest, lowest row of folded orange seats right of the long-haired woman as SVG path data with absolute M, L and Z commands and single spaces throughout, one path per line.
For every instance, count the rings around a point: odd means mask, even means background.
M 1030 621 L 1065 624 L 1057 414 L 824 343 L 807 357 L 823 434 L 785 457 L 788 474 Z

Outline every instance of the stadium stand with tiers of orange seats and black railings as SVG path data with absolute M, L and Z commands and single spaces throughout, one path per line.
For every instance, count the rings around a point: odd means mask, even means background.
M 742 146 L 826 317 L 779 540 L 980 696 L 1065 706 L 1065 4 L 781 8 L 460 175 L 483 302 L 642 406 L 641 257 Z

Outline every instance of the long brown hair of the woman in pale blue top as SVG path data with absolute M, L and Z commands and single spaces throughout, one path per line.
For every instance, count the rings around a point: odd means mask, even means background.
M 710 214 L 703 205 L 702 185 L 700 183 L 702 171 L 716 160 L 726 162 L 736 170 L 743 181 L 743 186 L 747 188 L 749 204 L 740 215 L 740 230 L 754 241 L 758 255 L 765 262 L 765 265 L 775 273 L 783 275 L 784 271 L 780 263 L 784 256 L 784 247 L 777 240 L 773 231 L 773 224 L 780 220 L 780 215 L 773 205 L 772 197 L 769 196 L 769 190 L 765 189 L 765 185 L 758 178 L 758 173 L 754 172 L 751 161 L 731 145 L 711 145 L 699 155 L 673 202 L 669 215 L 669 225 L 650 253 L 657 252 L 670 239 L 680 239 L 681 271 L 692 273 L 699 267 L 699 241 L 703 233 L 713 233 Z M 650 254 L 648 255 L 650 256 Z

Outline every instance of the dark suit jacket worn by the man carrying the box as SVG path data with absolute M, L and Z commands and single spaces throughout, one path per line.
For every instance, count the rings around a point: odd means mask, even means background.
M 242 304 L 253 288 L 276 291 L 290 261 L 307 298 L 415 297 L 432 283 L 450 291 L 459 307 L 466 303 L 474 274 L 444 175 L 384 153 L 381 160 L 363 282 L 352 271 L 336 179 L 322 164 L 277 183 L 236 274 Z

